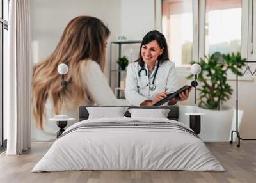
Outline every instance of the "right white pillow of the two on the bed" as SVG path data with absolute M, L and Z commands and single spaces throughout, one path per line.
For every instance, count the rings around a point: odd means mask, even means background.
M 128 109 L 131 118 L 167 118 L 170 109 Z

